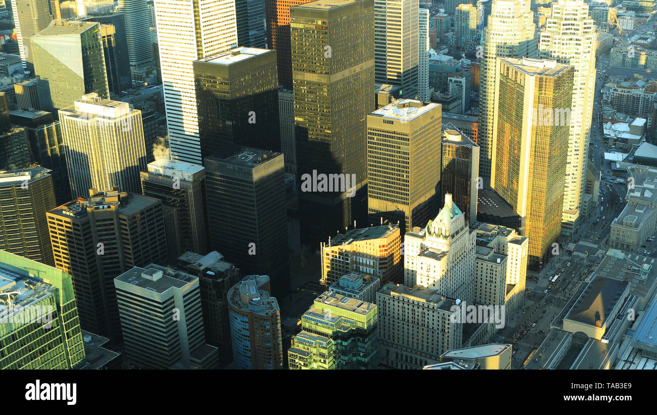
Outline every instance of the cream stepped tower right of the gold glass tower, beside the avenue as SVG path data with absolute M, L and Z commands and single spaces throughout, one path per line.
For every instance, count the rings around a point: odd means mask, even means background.
M 591 116 L 595 95 L 596 26 L 583 0 L 559 0 L 541 32 L 539 55 L 573 65 L 575 74 L 570 111 L 568 160 L 564 182 L 562 229 L 572 234 L 579 223 L 588 166 Z M 555 108 L 556 109 L 556 108 Z

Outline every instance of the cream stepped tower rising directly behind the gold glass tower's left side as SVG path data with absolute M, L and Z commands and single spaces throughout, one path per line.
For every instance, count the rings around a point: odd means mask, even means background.
M 488 16 L 488 26 L 482 34 L 481 83 L 480 83 L 480 146 L 479 174 L 486 186 L 491 177 L 491 164 L 495 163 L 493 141 L 493 102 L 495 97 L 496 58 L 535 58 L 537 37 L 530 0 L 495 0 Z M 491 183 L 490 183 L 491 184 Z

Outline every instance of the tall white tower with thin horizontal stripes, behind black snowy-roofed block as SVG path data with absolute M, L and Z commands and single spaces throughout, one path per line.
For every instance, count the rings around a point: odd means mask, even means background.
M 171 154 L 201 164 L 193 62 L 237 46 L 235 1 L 155 0 L 154 5 Z

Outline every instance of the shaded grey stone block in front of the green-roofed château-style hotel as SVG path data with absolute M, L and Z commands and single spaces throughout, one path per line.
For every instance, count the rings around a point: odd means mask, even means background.
M 456 300 L 435 288 L 388 282 L 376 293 L 376 305 L 378 356 L 384 367 L 420 369 L 463 343 L 464 324 L 451 319 Z

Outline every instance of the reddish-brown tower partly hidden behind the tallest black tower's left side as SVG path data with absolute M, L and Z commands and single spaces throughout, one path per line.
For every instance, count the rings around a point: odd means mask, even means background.
M 292 89 L 292 54 L 290 49 L 290 7 L 307 0 L 265 0 L 267 43 L 276 51 L 279 85 Z

